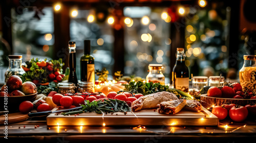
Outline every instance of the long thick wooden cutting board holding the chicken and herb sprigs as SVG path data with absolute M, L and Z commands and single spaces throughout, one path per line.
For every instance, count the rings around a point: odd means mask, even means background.
M 138 112 L 115 112 L 97 114 L 94 112 L 79 115 L 50 114 L 48 126 L 218 126 L 219 119 L 203 107 L 201 112 L 182 109 L 177 114 L 160 114 L 155 109 Z

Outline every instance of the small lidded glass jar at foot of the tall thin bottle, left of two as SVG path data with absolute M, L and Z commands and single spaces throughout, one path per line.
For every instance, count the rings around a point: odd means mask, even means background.
M 76 93 L 76 86 L 72 82 L 60 82 L 57 84 L 58 93 L 64 95 L 66 93 Z

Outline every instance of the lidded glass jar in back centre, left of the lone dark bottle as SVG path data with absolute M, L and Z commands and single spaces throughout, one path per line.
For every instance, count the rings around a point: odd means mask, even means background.
M 146 82 L 159 82 L 164 85 L 164 75 L 162 73 L 163 65 L 162 64 L 149 64 L 148 65 L 149 73 L 146 76 Z

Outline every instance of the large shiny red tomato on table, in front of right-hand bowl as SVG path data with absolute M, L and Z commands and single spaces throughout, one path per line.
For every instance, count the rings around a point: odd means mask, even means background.
M 248 110 L 244 106 L 234 106 L 229 110 L 229 117 L 236 122 L 242 122 L 246 119 Z

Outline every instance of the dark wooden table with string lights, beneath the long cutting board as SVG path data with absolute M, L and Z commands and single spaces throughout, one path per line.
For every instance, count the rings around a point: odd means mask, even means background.
M 226 126 L 227 125 L 227 126 Z M 47 126 L 45 117 L 0 126 L 0 140 L 18 142 L 245 142 L 256 140 L 256 121 L 221 121 L 214 127 Z M 252 142 L 253 142 L 252 141 Z

